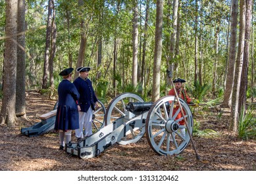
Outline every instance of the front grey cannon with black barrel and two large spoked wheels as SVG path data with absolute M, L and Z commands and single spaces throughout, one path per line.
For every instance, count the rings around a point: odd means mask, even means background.
M 190 107 L 182 99 L 179 101 L 180 108 L 174 113 L 177 103 L 174 96 L 148 103 L 134 93 L 122 93 L 109 104 L 104 116 L 105 126 L 79 142 L 70 141 L 65 151 L 79 158 L 93 158 L 115 143 L 137 143 L 146 135 L 149 146 L 157 154 L 179 154 L 190 143 L 193 130 Z M 177 120 L 180 110 L 185 116 Z M 184 118 L 188 126 L 179 124 Z M 180 129 L 185 129 L 186 134 L 182 135 Z

